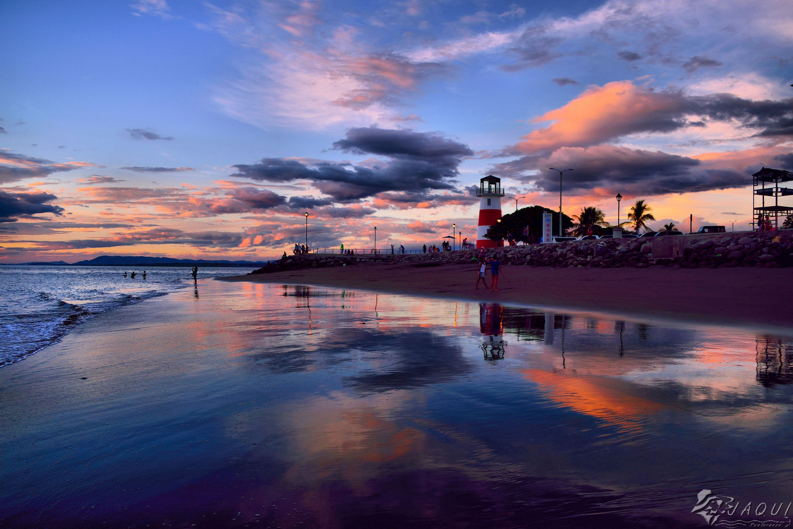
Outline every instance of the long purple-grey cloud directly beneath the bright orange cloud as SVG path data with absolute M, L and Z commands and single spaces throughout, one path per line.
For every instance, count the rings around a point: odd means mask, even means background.
M 494 167 L 496 174 L 509 175 L 534 189 L 558 193 L 559 174 L 547 167 L 573 167 L 565 173 L 563 190 L 585 194 L 595 189 L 631 195 L 660 195 L 707 190 L 723 190 L 748 185 L 746 174 L 732 169 L 702 167 L 698 159 L 601 145 L 591 148 L 561 148 L 550 158 L 525 156 Z M 526 175 L 525 171 L 539 171 Z

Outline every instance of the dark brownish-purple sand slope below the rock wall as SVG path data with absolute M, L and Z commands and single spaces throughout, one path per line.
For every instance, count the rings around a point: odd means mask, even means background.
M 475 290 L 477 267 L 460 265 L 360 264 L 222 280 L 370 289 L 693 323 L 793 327 L 793 268 L 672 270 L 504 266 L 503 270 L 500 292 L 482 289 L 481 285 Z

